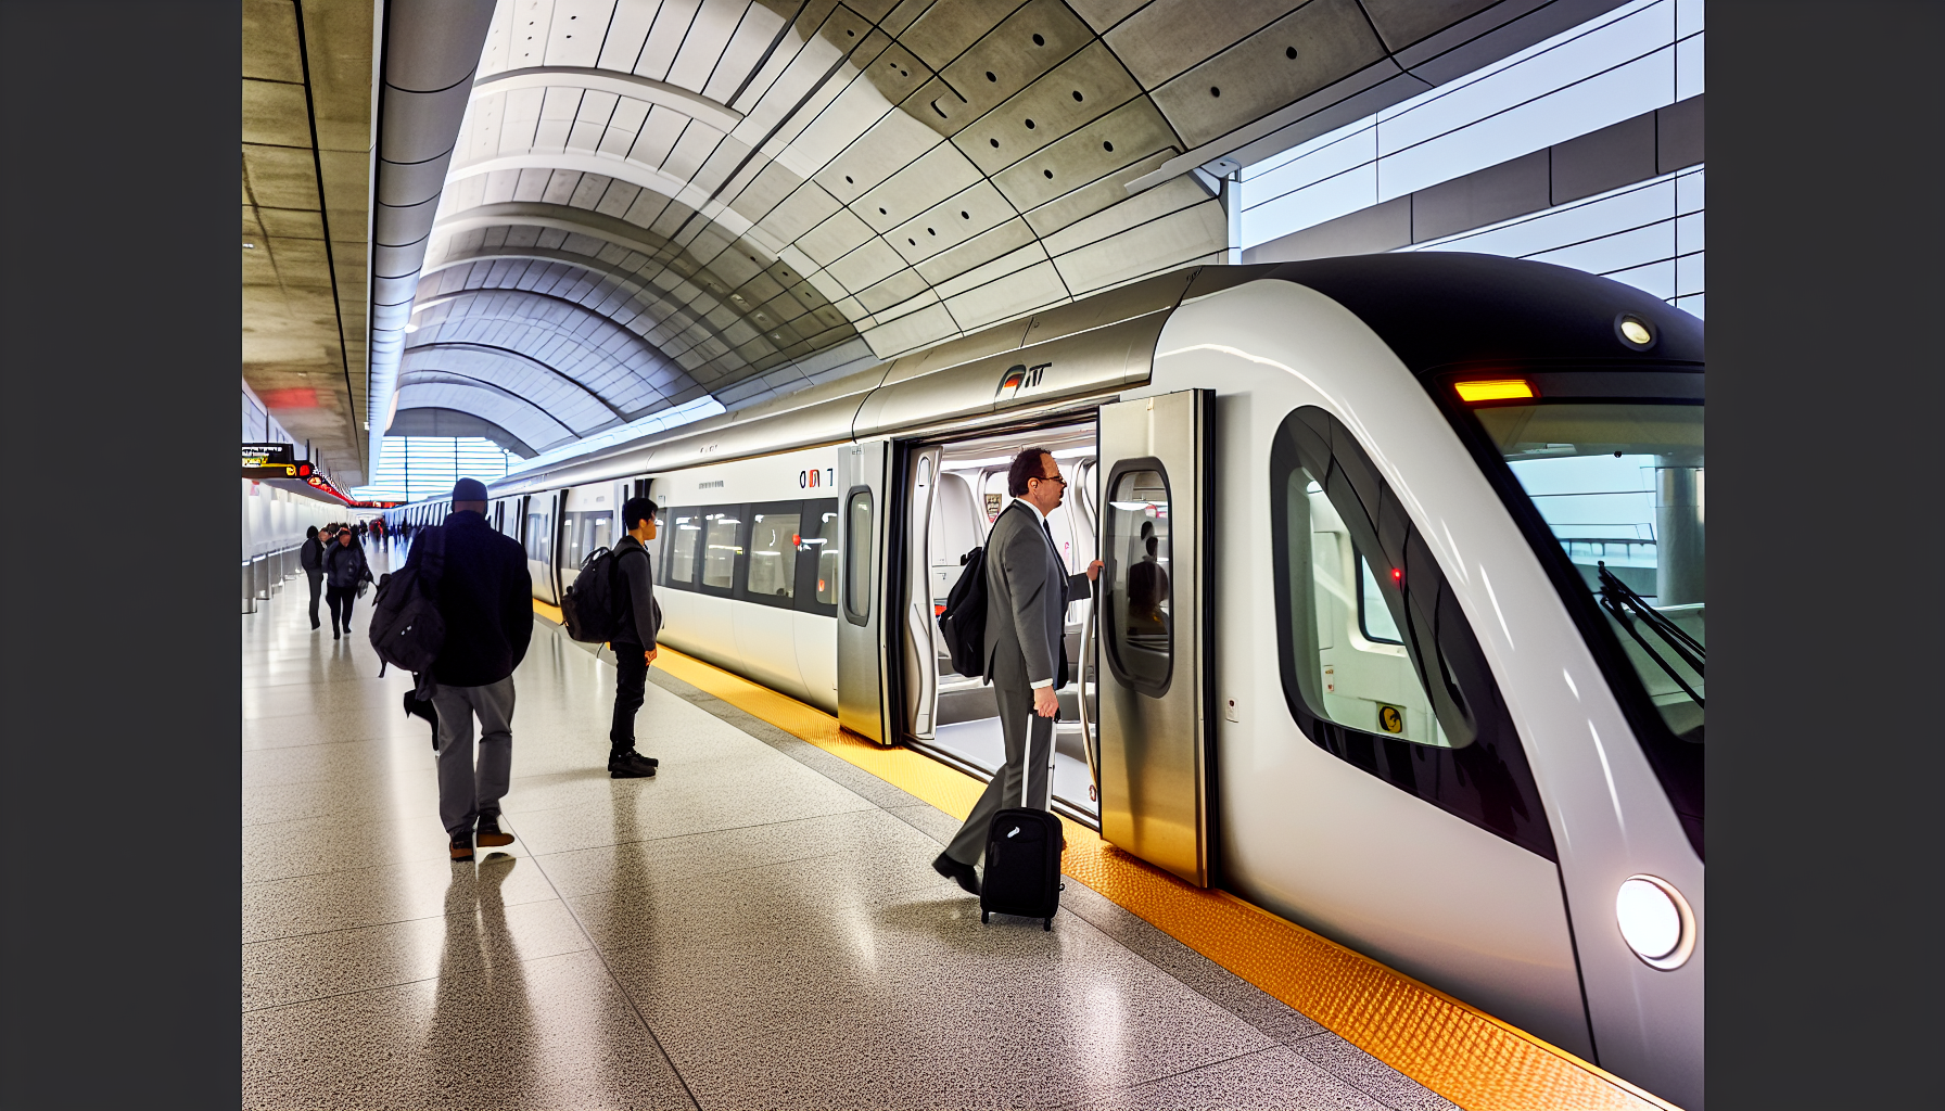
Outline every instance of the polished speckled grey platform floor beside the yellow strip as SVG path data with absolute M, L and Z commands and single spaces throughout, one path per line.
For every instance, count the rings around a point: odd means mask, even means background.
M 373 553 L 373 564 L 383 553 Z M 430 730 L 301 580 L 243 623 L 245 1107 L 1451 1107 L 1074 879 L 982 926 L 957 823 L 539 623 L 517 841 L 449 864 Z

